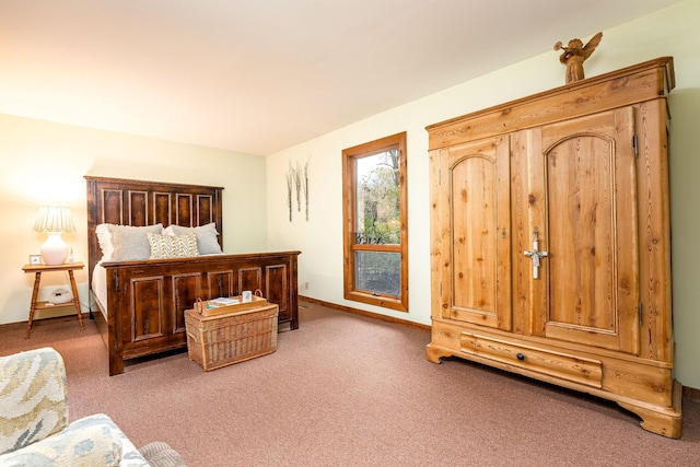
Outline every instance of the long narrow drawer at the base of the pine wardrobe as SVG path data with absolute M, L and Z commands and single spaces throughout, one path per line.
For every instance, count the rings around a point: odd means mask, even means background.
M 462 332 L 462 351 L 540 374 L 602 387 L 603 363 L 597 360 L 540 349 L 468 331 Z

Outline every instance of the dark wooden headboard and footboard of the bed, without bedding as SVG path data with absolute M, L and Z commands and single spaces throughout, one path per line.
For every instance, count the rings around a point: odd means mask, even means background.
M 223 188 L 86 176 L 90 283 L 102 258 L 95 227 L 101 223 L 198 226 L 222 232 Z M 219 243 L 223 245 L 222 235 Z M 109 374 L 125 361 L 187 345 L 185 311 L 197 300 L 260 290 L 279 308 L 278 324 L 299 328 L 300 252 L 205 255 L 191 258 L 104 262 L 107 303 L 97 303 L 106 326 Z

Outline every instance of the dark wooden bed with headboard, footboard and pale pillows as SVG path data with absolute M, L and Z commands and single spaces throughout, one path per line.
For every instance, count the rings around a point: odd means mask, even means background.
M 89 283 L 110 376 L 122 373 L 125 362 L 186 348 L 184 312 L 198 299 L 260 290 L 279 306 L 279 324 L 299 328 L 300 252 L 222 253 L 223 188 L 85 180 Z

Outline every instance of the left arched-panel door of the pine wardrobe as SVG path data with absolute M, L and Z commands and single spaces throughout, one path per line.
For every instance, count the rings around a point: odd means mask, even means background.
M 509 138 L 440 152 L 443 318 L 511 329 Z

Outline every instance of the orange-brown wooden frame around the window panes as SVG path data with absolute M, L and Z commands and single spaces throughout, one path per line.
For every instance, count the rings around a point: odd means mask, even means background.
M 373 245 L 355 243 L 357 225 L 357 161 L 385 151 L 399 151 L 399 217 L 400 244 Z M 354 302 L 408 312 L 408 153 L 406 131 L 342 150 L 342 238 L 343 238 L 343 297 Z M 399 253 L 400 295 L 368 292 L 355 288 L 355 253 Z

